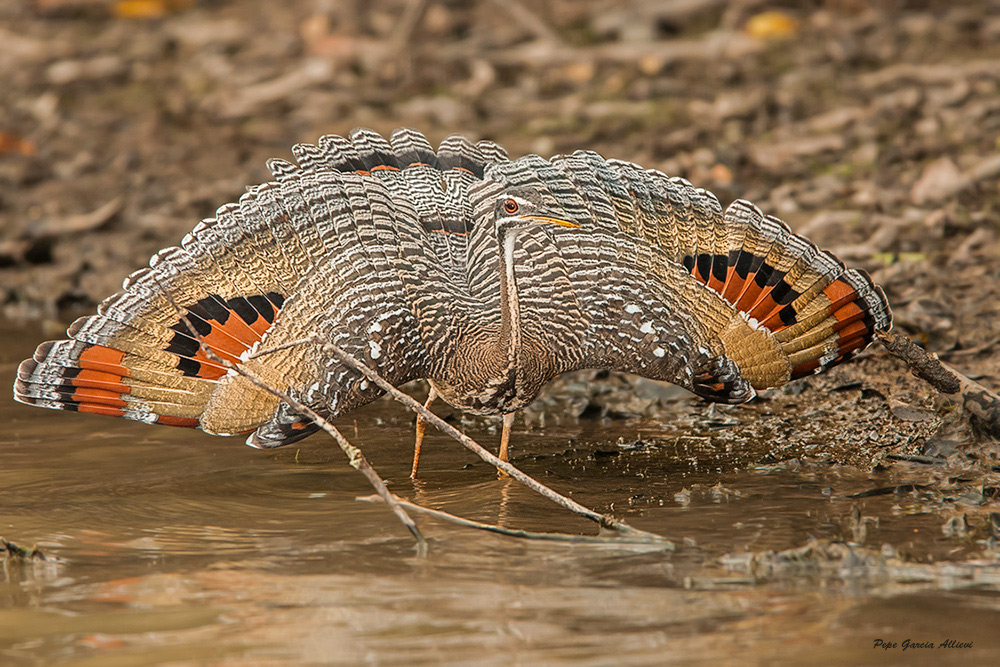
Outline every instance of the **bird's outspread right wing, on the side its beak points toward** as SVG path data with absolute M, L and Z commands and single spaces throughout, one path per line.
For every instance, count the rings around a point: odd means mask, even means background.
M 559 350 L 560 371 L 610 368 L 738 403 L 891 326 L 867 274 L 749 202 L 723 211 L 683 179 L 592 152 L 528 156 L 487 177 L 491 194 L 532 187 L 581 224 L 531 232 L 515 255 L 522 320 Z

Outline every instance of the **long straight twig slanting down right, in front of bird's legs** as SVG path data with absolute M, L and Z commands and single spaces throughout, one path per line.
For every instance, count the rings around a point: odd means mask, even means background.
M 590 519 L 591 521 L 594 521 L 595 523 L 597 523 L 599 526 L 601 526 L 603 528 L 608 528 L 610 530 L 614 530 L 614 531 L 616 531 L 618 533 L 622 533 L 622 534 L 626 534 L 626 535 L 643 535 L 643 536 L 646 537 L 646 539 L 649 539 L 649 540 L 660 541 L 660 540 L 665 540 L 666 539 L 666 538 L 664 538 L 664 537 L 662 537 L 660 535 L 656 535 L 654 533 L 649 533 L 649 532 L 646 532 L 644 530 L 639 530 L 637 528 L 633 528 L 632 526 L 628 525 L 624 521 L 621 521 L 619 519 L 615 519 L 614 517 L 608 516 L 606 514 L 600 514 L 598 512 L 595 512 L 594 510 L 588 509 L 588 508 L 584 507 L 583 505 L 581 505 L 580 503 L 578 503 L 578 502 L 576 502 L 574 500 L 571 500 L 571 499 L 567 498 L 566 496 L 564 496 L 564 495 L 562 495 L 560 493 L 557 493 L 556 491 L 550 489 L 549 487 L 545 486 L 541 482 L 539 482 L 539 481 L 535 480 L 534 478 L 529 477 L 528 475 L 524 474 L 523 472 L 521 472 L 520 470 L 518 470 L 517 468 L 515 468 L 511 464 L 507 463 L 506 461 L 501 461 L 499 458 L 497 458 L 496 456 L 494 456 L 493 454 L 491 454 L 489 451 L 487 451 L 486 449 L 484 449 L 481 445 L 479 445 L 479 443 L 477 443 L 475 440 L 473 440 L 469 436 L 465 435 L 464 433 L 462 433 L 461 431 L 459 431 L 458 429 L 456 429 L 455 427 L 453 427 L 451 424 L 448 424 L 447 422 L 445 422 L 443 419 L 441 419 L 440 417 L 438 417 L 437 415 L 435 415 L 430 410 L 426 410 L 424 408 L 424 406 L 421 405 L 419 402 L 417 402 L 416 400 L 414 400 L 409 395 L 407 395 L 407 394 L 401 392 L 400 390 L 396 389 L 390 383 L 388 383 L 384 379 L 382 379 L 382 376 L 380 376 L 374 370 L 372 370 L 371 368 L 369 368 L 364 363 L 358 361 L 357 359 L 355 359 L 354 357 L 352 357 L 351 355 L 349 355 L 347 352 L 344 352 L 344 350 L 340 349 L 339 347 L 337 347 L 333 343 L 325 341 L 325 340 L 321 339 L 318 336 L 315 337 L 314 340 L 315 340 L 315 342 L 316 342 L 317 345 L 319 345 L 320 347 L 322 347 L 322 349 L 323 349 L 324 352 L 327 352 L 328 354 L 333 355 L 339 361 L 341 361 L 341 362 L 347 364 L 348 366 L 350 366 L 351 368 L 354 368 L 355 370 L 359 371 L 362 375 L 364 375 L 366 378 L 368 378 L 371 382 L 373 382 L 375 385 L 377 385 L 380 389 L 382 389 L 383 391 L 385 391 L 386 393 L 388 393 L 390 396 L 392 396 L 393 398 L 395 398 L 397 401 L 399 401 L 403 405 L 407 406 L 408 408 L 410 408 L 411 410 L 413 410 L 414 412 L 416 412 L 417 414 L 419 414 L 427 422 L 433 424 L 439 431 L 442 431 L 443 433 L 451 436 L 455 440 L 458 440 L 467 449 L 471 450 L 477 456 L 479 456 L 479 458 L 483 459 L 484 461 L 486 461 L 490 465 L 496 466 L 500 470 L 503 470 L 508 475 L 510 475 L 511 477 L 513 477 L 514 479 L 516 479 L 517 481 L 519 481 L 521 484 L 527 486 L 529 489 L 531 489 L 535 493 L 538 493 L 539 495 L 544 496 L 545 498 L 548 498 L 552 502 L 554 502 L 557 505 L 560 505 L 560 506 L 568 509 L 571 512 L 574 512 L 576 514 L 579 514 L 580 516 L 583 516 L 583 517 L 586 517 L 587 519 Z

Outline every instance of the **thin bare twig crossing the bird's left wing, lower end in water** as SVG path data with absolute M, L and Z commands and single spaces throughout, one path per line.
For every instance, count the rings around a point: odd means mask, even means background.
M 361 474 L 368 479 L 368 482 L 375 487 L 375 491 L 378 495 L 385 500 L 385 503 L 390 507 L 390 509 L 392 509 L 393 513 L 399 518 L 399 520 L 403 522 L 403 525 L 410 531 L 410 534 L 413 535 L 413 538 L 417 541 L 417 553 L 421 556 L 425 555 L 427 553 L 427 541 L 424 539 L 423 533 L 420 532 L 420 528 L 417 527 L 417 524 L 413 522 L 413 519 L 410 518 L 406 511 L 396 501 L 395 495 L 389 492 L 389 489 L 385 486 L 385 482 L 383 482 L 382 478 L 379 477 L 377 472 L 375 472 L 375 469 L 371 467 L 368 463 L 368 459 L 366 459 L 365 455 L 361 453 L 361 450 L 352 445 L 347 438 L 345 438 L 343 434 L 337 430 L 337 427 L 321 417 L 309 406 L 295 400 L 285 392 L 267 385 L 247 373 L 242 367 L 215 354 L 215 352 L 213 352 L 212 349 L 205 344 L 201 334 L 199 334 L 198 330 L 194 328 L 194 325 L 191 324 L 191 320 L 188 319 L 184 311 L 177 305 L 173 297 L 170 296 L 170 293 L 163 288 L 160 281 L 156 280 L 155 276 L 153 276 L 153 280 L 156 281 L 156 284 L 159 286 L 160 291 L 166 297 L 167 301 L 169 301 L 170 304 L 177 310 L 177 313 L 180 315 L 181 322 L 183 322 L 184 326 L 187 327 L 191 336 L 198 341 L 198 345 L 200 346 L 202 352 L 204 352 L 209 359 L 232 371 L 235 371 L 236 373 L 239 373 L 257 387 L 260 387 L 264 391 L 277 396 L 292 406 L 292 408 L 294 408 L 297 412 L 309 417 L 309 419 L 311 419 L 320 428 L 333 436 L 333 439 L 337 441 L 338 445 L 340 445 L 344 454 L 347 455 L 347 460 L 350 462 L 351 467 L 361 472 Z

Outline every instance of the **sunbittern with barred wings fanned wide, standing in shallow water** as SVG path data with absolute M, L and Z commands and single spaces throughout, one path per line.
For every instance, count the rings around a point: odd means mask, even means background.
M 458 134 L 435 150 L 404 128 L 292 154 L 38 345 L 14 398 L 279 447 L 318 427 L 219 359 L 328 419 L 382 394 L 296 343 L 318 337 L 394 386 L 429 381 L 427 405 L 503 417 L 507 460 L 514 415 L 563 373 L 738 404 L 892 326 L 867 273 L 752 203 L 593 151 L 511 159 Z

